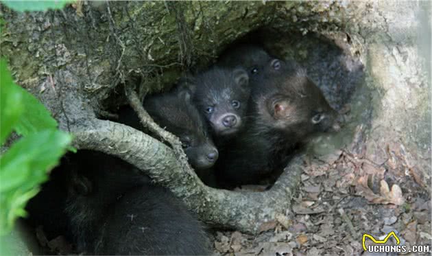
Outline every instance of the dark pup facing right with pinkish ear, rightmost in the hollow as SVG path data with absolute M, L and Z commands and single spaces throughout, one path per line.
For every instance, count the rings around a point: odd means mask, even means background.
M 251 82 L 248 123 L 219 150 L 222 187 L 258 183 L 281 170 L 296 146 L 317 132 L 337 130 L 337 112 L 295 62 L 272 59 Z

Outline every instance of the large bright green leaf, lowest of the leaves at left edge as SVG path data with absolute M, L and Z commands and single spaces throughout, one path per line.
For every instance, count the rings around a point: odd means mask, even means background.
M 0 234 L 10 231 L 17 217 L 25 216 L 25 204 L 47 180 L 71 139 L 67 132 L 43 130 L 19 139 L 0 156 Z

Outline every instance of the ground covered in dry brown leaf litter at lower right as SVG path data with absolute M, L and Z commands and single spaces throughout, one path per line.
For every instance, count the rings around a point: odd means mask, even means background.
M 426 244 L 431 252 L 430 191 L 407 174 L 409 167 L 399 156 L 380 166 L 341 150 L 307 161 L 287 215 L 264 224 L 259 235 L 215 231 L 215 253 L 372 255 L 363 251 L 363 233 L 383 240 L 391 231 L 407 249 Z M 366 239 L 365 244 L 372 242 Z

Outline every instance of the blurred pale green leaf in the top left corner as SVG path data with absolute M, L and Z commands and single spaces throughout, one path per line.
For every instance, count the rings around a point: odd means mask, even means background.
M 64 5 L 70 3 L 70 0 L 51 0 L 51 1 L 16 1 L 3 0 L 1 1 L 8 8 L 18 11 L 45 11 L 48 9 L 62 9 Z

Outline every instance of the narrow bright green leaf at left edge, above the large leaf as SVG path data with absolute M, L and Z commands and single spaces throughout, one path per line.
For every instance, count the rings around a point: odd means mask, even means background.
M 0 59 L 0 145 L 8 137 L 23 113 L 23 97 L 12 81 L 8 64 Z

